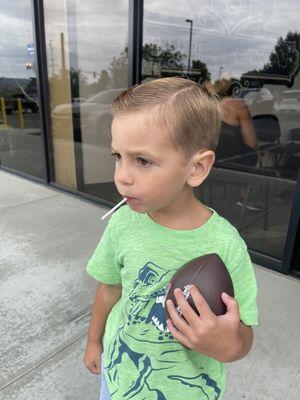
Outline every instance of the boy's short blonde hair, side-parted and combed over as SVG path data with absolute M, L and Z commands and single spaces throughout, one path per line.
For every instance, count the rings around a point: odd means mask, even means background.
M 165 126 L 173 146 L 185 157 L 218 144 L 222 107 L 218 96 L 196 82 L 179 77 L 161 78 L 124 90 L 112 112 L 147 111 Z

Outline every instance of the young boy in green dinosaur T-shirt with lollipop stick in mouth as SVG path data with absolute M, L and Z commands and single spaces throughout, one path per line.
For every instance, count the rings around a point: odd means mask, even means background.
M 224 362 L 250 351 L 257 306 L 244 241 L 193 192 L 214 162 L 220 102 L 195 82 L 164 78 L 122 92 L 113 113 L 114 178 L 127 205 L 111 217 L 87 266 L 101 283 L 85 365 L 99 373 L 104 351 L 101 400 L 221 399 Z M 166 287 L 184 263 L 208 253 L 226 264 L 235 299 L 223 293 L 227 313 L 217 317 L 191 287 L 198 316 L 175 290 L 181 316 L 165 304 Z

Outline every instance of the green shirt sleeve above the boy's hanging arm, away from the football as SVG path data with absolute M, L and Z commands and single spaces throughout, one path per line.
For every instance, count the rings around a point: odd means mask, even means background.
M 117 261 L 116 241 L 111 221 L 87 264 L 87 273 L 97 281 L 108 285 L 121 284 L 121 264 Z

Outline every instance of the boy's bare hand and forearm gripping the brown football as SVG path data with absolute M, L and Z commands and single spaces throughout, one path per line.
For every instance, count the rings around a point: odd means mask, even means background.
M 177 312 L 174 303 L 167 301 L 171 317 L 167 324 L 174 338 L 184 346 L 219 361 L 233 361 L 245 355 L 245 349 L 252 344 L 252 329 L 240 322 L 237 301 L 223 293 L 222 300 L 227 306 L 227 312 L 216 316 L 197 287 L 190 286 L 190 293 L 200 316 L 189 305 L 180 289 L 175 289 L 174 294 L 184 318 Z

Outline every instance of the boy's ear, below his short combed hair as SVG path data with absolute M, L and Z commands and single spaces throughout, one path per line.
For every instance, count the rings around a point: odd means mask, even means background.
M 187 184 L 197 187 L 207 178 L 215 161 L 212 150 L 198 151 L 191 159 L 191 171 Z

